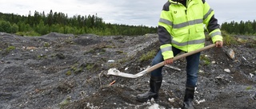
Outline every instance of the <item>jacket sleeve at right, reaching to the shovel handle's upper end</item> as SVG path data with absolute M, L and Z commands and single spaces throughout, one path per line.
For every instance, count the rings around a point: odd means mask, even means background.
M 203 1 L 203 23 L 206 24 L 206 29 L 210 34 L 210 37 L 215 43 L 215 41 L 222 41 L 222 33 L 220 26 L 218 25 L 218 20 L 214 18 L 214 10 L 210 8 L 207 2 Z

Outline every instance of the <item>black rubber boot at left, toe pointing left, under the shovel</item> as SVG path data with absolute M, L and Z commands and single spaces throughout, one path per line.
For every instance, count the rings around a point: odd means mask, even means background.
M 144 94 L 138 94 L 137 99 L 141 102 L 146 102 L 148 99 L 154 98 L 155 101 L 158 100 L 158 92 L 161 88 L 162 76 L 151 76 L 150 77 L 150 90 Z

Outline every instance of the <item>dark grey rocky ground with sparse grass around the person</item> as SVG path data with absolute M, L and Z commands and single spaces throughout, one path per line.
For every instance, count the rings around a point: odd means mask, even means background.
M 240 41 L 238 45 L 202 52 L 196 108 L 256 107 L 256 100 L 251 99 L 256 91 L 256 38 L 234 37 Z M 148 90 L 149 74 L 135 79 L 106 75 L 110 68 L 132 74 L 142 71 L 150 66 L 158 46 L 157 34 L 22 37 L 0 33 L 0 108 L 180 108 L 186 80 L 184 58 L 172 64 L 180 71 L 163 69 L 159 103 L 135 99 Z M 230 50 L 234 50 L 234 59 L 227 55 Z

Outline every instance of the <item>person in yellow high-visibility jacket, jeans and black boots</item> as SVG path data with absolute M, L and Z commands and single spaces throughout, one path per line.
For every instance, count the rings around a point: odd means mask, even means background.
M 164 61 L 173 64 L 174 56 L 180 52 L 201 49 L 205 45 L 204 28 L 216 47 L 222 47 L 222 34 L 214 10 L 205 0 L 169 0 L 162 8 L 158 21 L 160 51 L 154 57 L 152 65 Z M 194 108 L 194 88 L 198 79 L 200 53 L 186 56 L 186 90 L 182 108 Z M 158 91 L 162 84 L 162 67 L 150 72 L 150 90 L 137 95 L 139 101 L 154 98 L 158 100 Z

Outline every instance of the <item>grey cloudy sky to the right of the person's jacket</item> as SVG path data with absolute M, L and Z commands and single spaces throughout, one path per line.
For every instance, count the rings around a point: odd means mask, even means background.
M 218 22 L 222 24 L 225 21 L 252 21 L 255 19 L 254 10 L 255 0 L 206 0 L 215 11 Z

